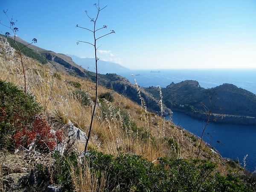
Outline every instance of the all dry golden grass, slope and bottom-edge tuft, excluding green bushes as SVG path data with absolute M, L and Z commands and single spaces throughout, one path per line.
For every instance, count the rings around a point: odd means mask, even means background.
M 58 73 L 61 78 L 56 78 L 53 75 L 54 70 L 47 65 L 42 66 L 31 58 L 25 58 L 24 63 L 27 90 L 41 103 L 44 108 L 44 115 L 48 117 L 52 123 L 51 125 L 55 128 L 61 128 L 70 119 L 74 125 L 88 133 L 92 106 L 81 105 L 81 98 L 73 96 L 73 91 L 76 88 L 69 84 L 68 81 L 79 82 L 81 89 L 86 91 L 92 98 L 95 98 L 95 84 L 86 81 L 86 79 L 68 76 L 64 73 Z M 11 81 L 20 88 L 24 86 L 21 64 L 17 57 L 0 55 L 0 79 Z M 99 86 L 98 91 L 100 94 L 110 90 Z M 125 96 L 116 92 L 112 94 L 115 101 L 113 103 L 105 102 L 110 115 L 103 118 L 101 107 L 100 105 L 97 106 L 88 149 L 102 151 L 114 156 L 119 155 L 120 152 L 138 154 L 150 161 L 154 161 L 158 157 L 188 158 L 197 156 L 198 141 L 192 141 L 192 134 L 180 129 L 172 122 L 148 113 L 145 108 L 135 104 Z M 140 140 L 139 133 L 133 133 L 129 127 L 125 127 L 120 111 L 113 111 L 113 108 L 126 111 L 130 116 L 130 121 L 134 121 L 139 128 L 150 131 L 152 137 Z M 136 134 L 137 137 L 134 137 Z M 177 149 L 175 145 L 170 145 L 166 138 L 172 138 L 179 145 L 179 148 Z M 83 151 L 84 145 L 79 144 L 77 148 L 79 151 Z M 209 150 L 202 150 L 199 157 L 217 163 L 221 161 L 218 156 L 210 154 Z M 3 161 L 7 162 L 0 159 L 0 163 Z M 15 162 L 12 163 L 15 164 Z M 97 186 L 97 181 L 94 177 L 96 174 L 90 173 L 88 165 L 85 165 L 84 169 L 80 165 L 79 169 L 81 169 L 79 171 L 80 175 L 76 175 L 74 170 L 71 172 L 73 185 L 77 189 L 103 191 L 104 186 Z M 223 174 L 227 172 L 225 166 L 221 166 L 221 163 L 218 171 Z M 0 169 L 0 177 L 1 174 L 2 167 Z M 104 180 L 106 175 L 105 173 L 102 173 L 102 175 L 101 179 Z

